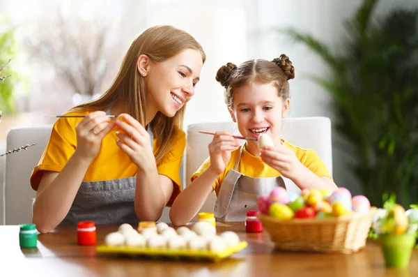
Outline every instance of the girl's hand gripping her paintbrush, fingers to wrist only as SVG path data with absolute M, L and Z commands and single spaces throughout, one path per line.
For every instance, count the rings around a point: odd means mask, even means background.
M 221 174 L 231 159 L 231 151 L 238 147 L 238 141 L 227 132 L 217 132 L 210 142 L 210 169 Z

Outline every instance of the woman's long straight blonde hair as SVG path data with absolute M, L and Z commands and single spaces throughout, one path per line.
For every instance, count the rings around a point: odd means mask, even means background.
M 78 105 L 72 110 L 106 110 L 114 105 L 126 105 L 127 113 L 145 127 L 146 86 L 144 77 L 137 70 L 139 55 L 145 54 L 151 61 L 159 62 L 187 49 L 198 50 L 201 52 L 203 63 L 206 61 L 203 48 L 189 33 L 171 26 L 155 26 L 146 29 L 130 45 L 111 87 L 97 100 Z M 170 144 L 175 135 L 183 130 L 185 106 L 171 118 L 157 112 L 151 121 L 153 135 L 157 139 L 157 153 L 155 154 L 157 165 L 169 153 Z

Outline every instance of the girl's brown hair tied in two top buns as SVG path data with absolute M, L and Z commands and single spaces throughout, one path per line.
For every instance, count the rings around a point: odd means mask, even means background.
M 273 84 L 277 89 L 279 97 L 283 100 L 289 98 L 289 83 L 295 77 L 295 68 L 291 60 L 281 54 L 279 58 L 272 61 L 265 59 L 251 59 L 240 66 L 233 63 L 226 63 L 221 66 L 216 74 L 216 80 L 225 88 L 225 103 L 232 110 L 233 89 L 241 87 L 248 82 L 258 84 Z

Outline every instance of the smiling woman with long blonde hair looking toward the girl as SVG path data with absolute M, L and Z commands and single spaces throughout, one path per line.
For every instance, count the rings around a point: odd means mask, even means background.
M 56 121 L 31 175 L 40 232 L 82 220 L 160 218 L 180 192 L 185 104 L 205 60 L 185 31 L 151 27 L 133 41 L 103 96 L 65 114 L 84 118 Z

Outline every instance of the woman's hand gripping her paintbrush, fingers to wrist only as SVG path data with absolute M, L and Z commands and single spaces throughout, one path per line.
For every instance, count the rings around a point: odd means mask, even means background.
M 97 111 L 88 114 L 75 128 L 77 133 L 75 154 L 93 160 L 100 152 L 103 137 L 112 128 L 114 128 L 114 122 L 106 116 L 106 112 Z

